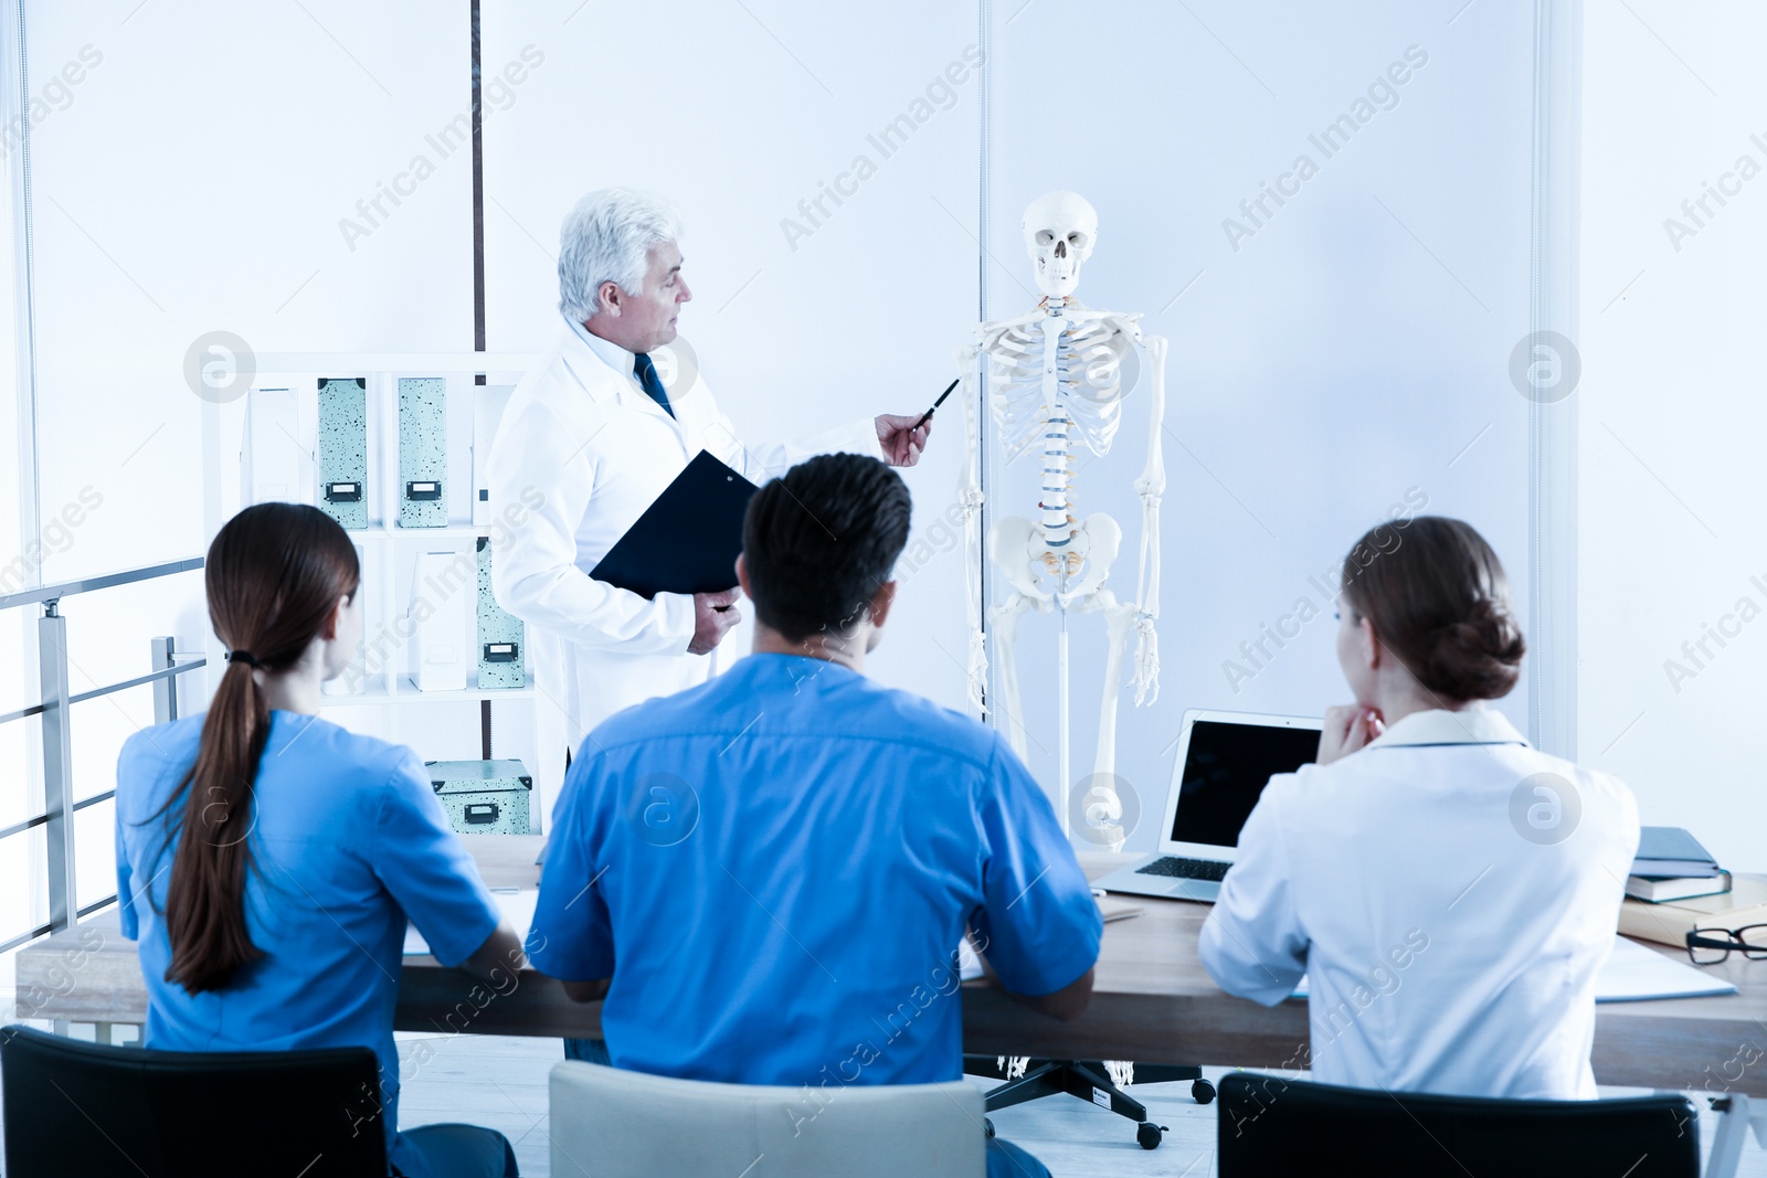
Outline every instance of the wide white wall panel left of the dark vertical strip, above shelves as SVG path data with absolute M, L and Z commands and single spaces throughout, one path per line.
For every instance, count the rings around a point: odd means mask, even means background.
M 27 4 L 32 90 L 85 65 L 32 132 L 44 521 L 87 487 L 101 498 L 46 581 L 207 546 L 201 403 L 182 373 L 198 336 L 230 330 L 256 351 L 472 348 L 465 155 L 353 251 L 337 226 L 468 106 L 465 12 L 433 12 Z M 76 691 L 145 671 L 150 634 L 200 648 L 209 631 L 198 574 L 64 613 Z M 78 705 L 72 722 L 76 795 L 97 793 L 152 722 L 148 691 Z M 81 812 L 83 902 L 115 887 L 110 821 L 108 804 Z

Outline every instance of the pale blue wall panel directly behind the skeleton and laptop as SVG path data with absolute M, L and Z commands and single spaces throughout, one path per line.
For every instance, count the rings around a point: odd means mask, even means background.
M 1530 11 L 1456 18 L 1458 4 L 1394 2 L 1272 19 L 1233 4 L 1111 4 L 1101 19 L 1133 35 L 1071 39 L 1062 9 L 1012 9 L 997 5 L 991 311 L 1034 306 L 1020 214 L 1071 187 L 1099 214 L 1080 298 L 1143 311 L 1172 341 L 1163 682 L 1149 708 L 1124 692 L 1119 740 L 1119 774 L 1154 811 L 1129 850 L 1150 848 L 1186 708 L 1318 715 L 1343 701 L 1315 578 L 1334 590 L 1336 562 L 1408 491 L 1472 521 L 1525 606 L 1527 401 L 1507 364 L 1528 327 Z M 1396 99 L 1380 95 L 1391 109 L 1327 159 L 1309 134 L 1362 113 L 1354 102 L 1412 46 L 1428 60 Z M 1267 201 L 1262 226 L 1246 217 L 1240 201 L 1302 154 L 1318 175 L 1286 205 Z M 1228 217 L 1253 237 L 1230 242 Z M 1145 389 L 1124 413 L 1111 454 L 1078 479 L 1078 509 L 1122 523 L 1111 585 L 1127 599 Z M 1032 466 L 1007 472 L 998 512 L 1034 514 Z M 1240 643 L 1301 599 L 1320 616 L 1248 659 Z M 1032 765 L 1051 782 L 1055 620 L 1028 618 L 1021 634 Z M 1104 643 L 1097 618 L 1071 634 L 1078 782 Z M 1521 728 L 1525 698 L 1523 682 L 1502 705 Z

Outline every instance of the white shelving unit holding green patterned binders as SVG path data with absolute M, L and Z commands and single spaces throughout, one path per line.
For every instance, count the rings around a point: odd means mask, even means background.
M 451 592 L 468 595 L 463 650 L 477 650 L 477 540 L 495 530 L 493 525 L 472 523 L 474 461 L 472 447 L 488 445 L 474 438 L 474 389 L 482 376 L 486 385 L 514 385 L 539 362 L 537 355 L 514 353 L 357 353 L 357 351 L 284 351 L 256 357 L 256 376 L 251 392 L 226 404 L 205 406 L 205 537 L 212 539 L 221 525 L 239 509 L 249 505 L 251 487 L 246 486 L 247 429 L 246 403 L 258 390 L 290 389 L 295 392 L 297 429 L 286 445 L 306 461 L 302 486 L 286 498 L 320 503 L 318 487 L 318 380 L 362 378 L 368 392 L 368 517 L 362 530 L 350 530 L 362 560 L 364 585 L 364 676 L 362 691 L 353 694 L 327 694 L 323 710 L 329 719 L 346 728 L 373 731 L 389 740 L 399 740 L 417 749 L 424 759 L 477 758 L 481 721 L 472 719 L 472 752 L 461 751 L 463 726 L 459 705 L 489 701 L 495 728 L 493 754 L 518 758 L 534 775 L 530 812 L 535 830 L 542 830 L 551 800 L 564 781 L 564 726 L 562 717 L 551 717 L 546 701 L 535 687 L 535 643 L 527 636 L 523 657 L 527 682 L 523 687 L 477 687 L 475 671 L 468 669 L 465 691 L 417 691 L 410 678 L 410 639 L 401 636 L 396 622 L 405 616 L 412 593 L 413 569 L 419 553 L 458 553 L 472 563 L 472 574 Z M 447 380 L 447 475 L 444 491 L 449 503 L 449 523 L 442 528 L 403 528 L 398 525 L 399 505 L 399 427 L 398 381 L 401 376 L 440 376 Z M 288 459 L 288 456 L 281 456 Z M 205 539 L 205 542 L 207 542 Z M 210 673 L 219 675 L 221 652 L 210 636 Z M 477 662 L 474 659 L 468 668 Z M 498 706 L 500 705 L 500 706 Z M 509 717 L 505 708 L 516 706 L 525 715 Z M 373 719 L 362 712 L 373 710 Z M 516 724 L 509 721 L 514 719 Z M 507 733 L 514 729 L 516 736 Z M 433 745 L 433 747 L 426 747 Z M 451 747 L 440 747 L 451 745 Z M 548 752 L 557 745 L 557 752 Z

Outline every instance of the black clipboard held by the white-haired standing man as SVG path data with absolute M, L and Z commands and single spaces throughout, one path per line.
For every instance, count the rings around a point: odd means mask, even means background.
M 645 599 L 733 588 L 742 516 L 756 489 L 700 450 L 588 576 Z

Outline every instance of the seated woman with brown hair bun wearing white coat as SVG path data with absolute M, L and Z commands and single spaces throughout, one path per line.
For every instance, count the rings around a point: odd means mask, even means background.
M 1228 993 L 1308 975 L 1313 1079 L 1594 1099 L 1596 975 L 1638 850 L 1631 791 L 1528 745 L 1486 699 L 1527 643 L 1460 519 L 1362 535 L 1343 563 L 1318 761 L 1272 777 L 1202 933 Z

